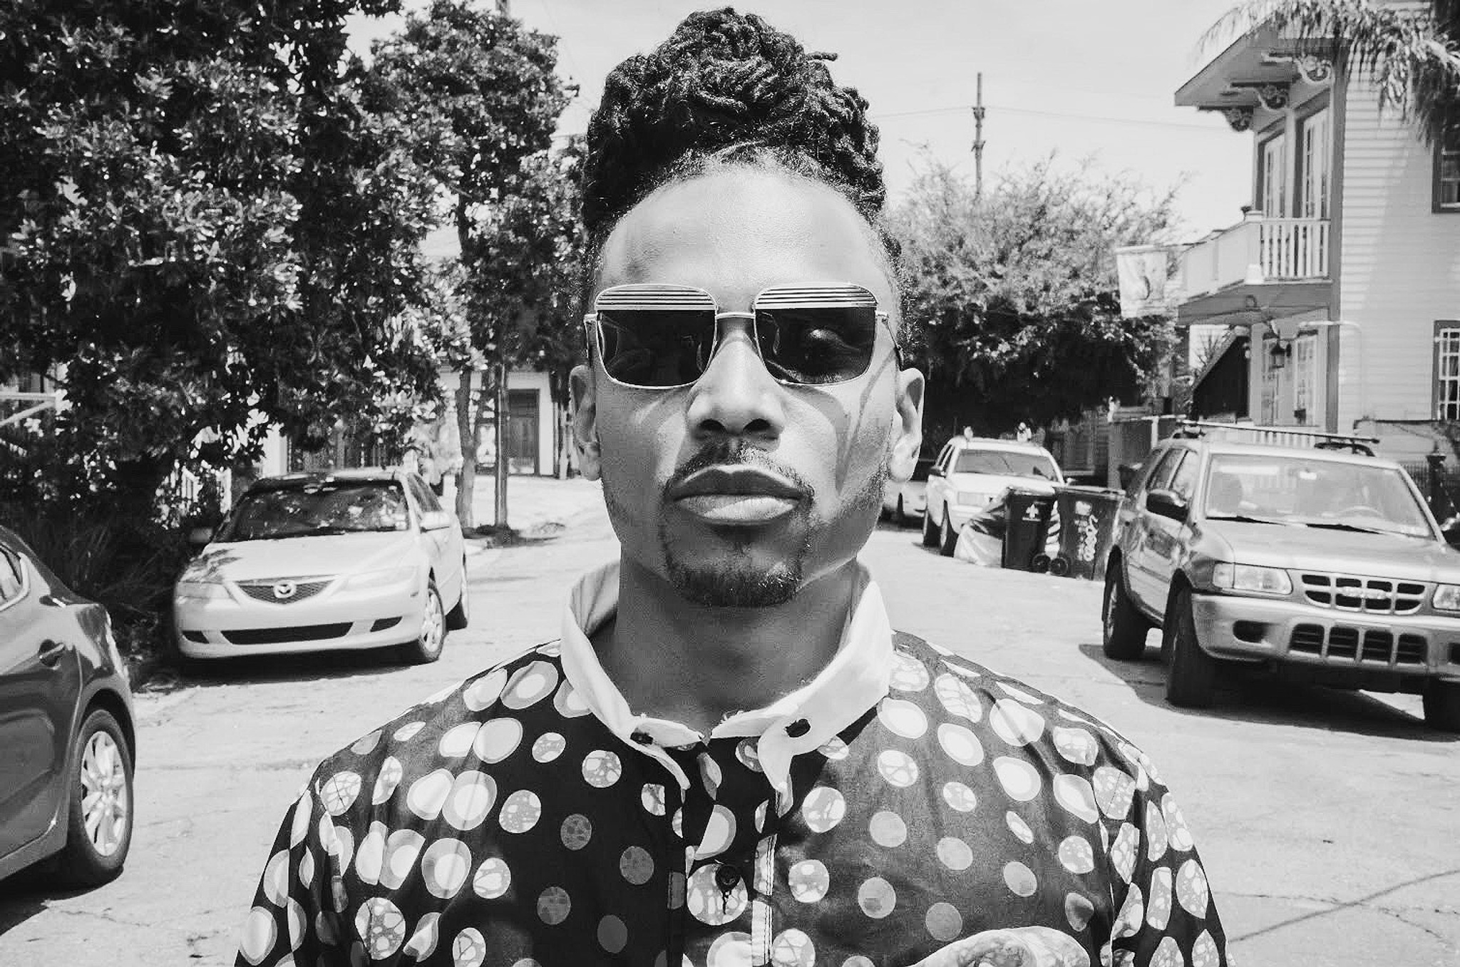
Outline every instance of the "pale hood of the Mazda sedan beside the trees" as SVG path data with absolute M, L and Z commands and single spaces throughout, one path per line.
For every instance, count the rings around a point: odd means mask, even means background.
M 371 571 L 409 562 L 415 548 L 416 535 L 409 530 L 210 543 L 188 564 L 181 580 L 219 576 L 248 581 Z

